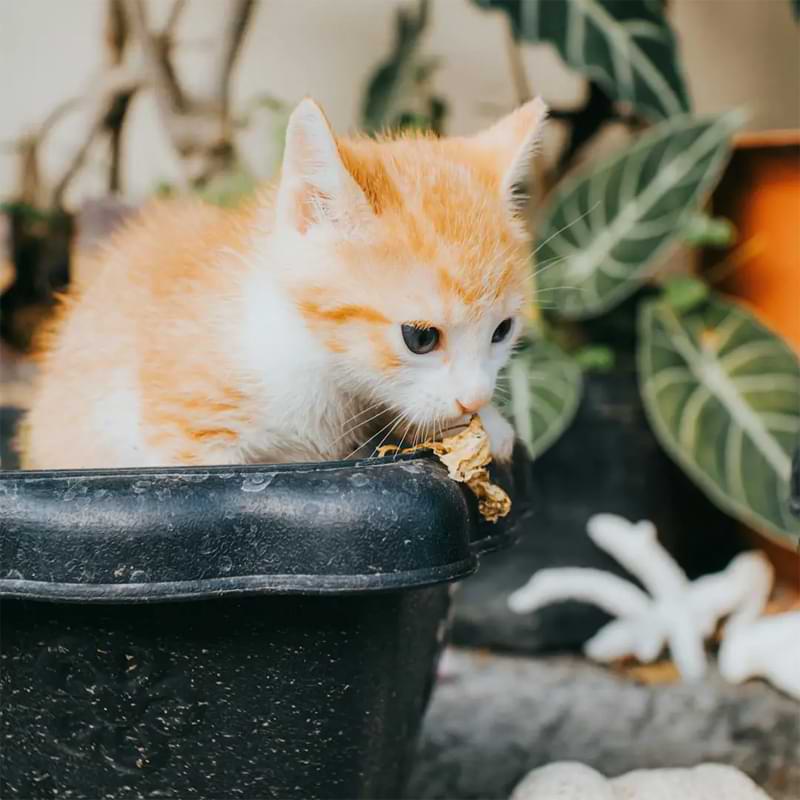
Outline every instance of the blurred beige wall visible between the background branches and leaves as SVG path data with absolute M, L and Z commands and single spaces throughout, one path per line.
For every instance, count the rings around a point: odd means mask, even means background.
M 193 0 L 179 30 L 179 66 L 191 75 L 202 58 L 204 3 Z M 154 21 L 170 3 L 150 0 Z M 8 143 L 54 107 L 79 95 L 100 63 L 104 0 L 25 0 L 0 8 L 0 197 L 13 191 L 16 161 Z M 398 0 L 263 0 L 255 14 L 235 85 L 238 102 L 272 94 L 294 102 L 313 95 L 340 130 L 358 119 L 364 84 L 388 52 Z M 504 49 L 505 18 L 469 0 L 434 0 L 427 51 L 441 58 L 435 84 L 450 106 L 448 129 L 469 132 L 514 105 Z M 671 0 L 690 92 L 698 112 L 746 106 L 752 129 L 800 127 L 800 28 L 788 0 Z M 531 84 L 559 105 L 576 102 L 581 83 L 548 47 L 526 47 Z M 274 121 L 261 115 L 243 135 L 262 174 L 278 157 Z M 80 138 L 78 113 L 55 129 L 45 171 L 58 168 Z M 174 175 L 152 99 L 134 104 L 127 128 L 125 186 L 146 194 Z M 102 191 L 95 157 L 72 197 Z

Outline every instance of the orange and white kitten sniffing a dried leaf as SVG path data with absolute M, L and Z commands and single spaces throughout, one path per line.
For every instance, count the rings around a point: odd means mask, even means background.
M 304 100 L 281 178 L 234 211 L 155 203 L 48 337 L 25 468 L 316 461 L 490 405 L 529 302 L 533 100 L 464 138 L 334 138 Z M 516 190 L 516 191 L 515 191 Z

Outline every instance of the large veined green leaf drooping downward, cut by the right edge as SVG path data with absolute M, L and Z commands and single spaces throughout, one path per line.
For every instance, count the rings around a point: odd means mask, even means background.
M 639 328 L 642 398 L 662 445 L 724 510 L 800 536 L 789 510 L 800 441 L 795 353 L 718 296 L 680 316 L 665 302 L 646 303 Z

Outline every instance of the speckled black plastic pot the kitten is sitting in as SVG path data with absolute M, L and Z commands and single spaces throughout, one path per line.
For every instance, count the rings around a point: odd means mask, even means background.
M 0 473 L 0 533 L 5 800 L 399 796 L 510 537 L 419 458 Z

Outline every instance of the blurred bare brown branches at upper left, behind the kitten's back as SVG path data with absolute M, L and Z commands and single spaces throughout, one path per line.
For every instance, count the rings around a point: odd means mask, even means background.
M 125 124 L 137 93 L 149 91 L 156 98 L 159 121 L 178 157 L 178 188 L 228 200 L 232 185 L 237 190 L 252 186 L 236 147 L 237 121 L 230 95 L 253 6 L 253 0 L 232 0 L 209 7 L 208 13 L 218 17 L 221 33 L 207 48 L 205 73 L 193 76 L 190 89 L 181 83 L 174 64 L 176 29 L 186 0 L 174 0 L 158 31 L 148 21 L 143 0 L 107 0 L 104 58 L 97 74 L 82 94 L 59 104 L 32 133 L 14 144 L 17 187 L 3 210 L 10 220 L 8 250 L 15 275 L 0 304 L 2 335 L 12 345 L 23 350 L 30 346 L 34 331 L 52 307 L 54 292 L 69 280 L 70 246 L 76 231 L 65 197 L 93 150 L 107 150 L 108 194 L 125 192 L 121 169 Z M 61 170 L 45 177 L 40 161 L 48 136 L 64 116 L 79 109 L 84 112 L 83 135 Z M 115 211 L 116 206 L 92 219 L 96 225 L 110 227 L 119 216 Z M 103 233 L 93 230 L 87 236 L 96 239 Z

